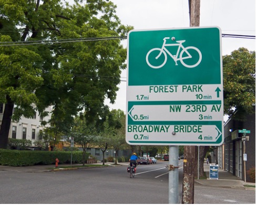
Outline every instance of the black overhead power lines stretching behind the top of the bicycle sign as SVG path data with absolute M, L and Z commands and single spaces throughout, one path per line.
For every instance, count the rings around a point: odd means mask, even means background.
M 222 34 L 223 38 L 245 38 L 255 39 L 255 36 L 237 35 L 237 34 Z M 0 42 L 0 46 L 28 46 L 28 45 L 44 45 L 44 44 L 64 44 L 68 42 L 83 42 L 83 41 L 99 41 L 99 40 L 121 40 L 127 39 L 127 36 L 112 36 L 99 38 L 73 38 L 60 40 L 34 40 L 34 41 L 19 41 L 19 42 Z

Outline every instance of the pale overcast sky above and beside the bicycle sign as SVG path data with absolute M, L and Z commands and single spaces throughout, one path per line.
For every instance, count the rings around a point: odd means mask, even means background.
M 111 0 L 117 5 L 121 24 L 134 29 L 189 27 L 188 0 Z M 222 34 L 255 36 L 255 0 L 201 0 L 200 26 L 218 26 Z M 124 41 L 126 47 L 127 41 Z M 245 47 L 255 50 L 255 39 L 222 38 L 222 55 Z M 106 102 L 110 110 L 126 112 L 126 76 L 121 74 L 116 103 Z

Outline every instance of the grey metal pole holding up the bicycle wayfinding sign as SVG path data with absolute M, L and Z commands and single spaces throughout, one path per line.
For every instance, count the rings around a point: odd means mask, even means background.
M 178 169 L 179 146 L 169 146 L 169 203 L 178 203 L 179 169 Z

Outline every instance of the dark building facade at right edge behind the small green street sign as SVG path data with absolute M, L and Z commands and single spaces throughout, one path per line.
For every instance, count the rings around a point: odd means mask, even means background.
M 239 130 L 244 129 L 250 131 L 246 134 L 249 136 L 249 141 L 243 141 L 243 133 L 239 133 Z M 230 118 L 224 124 L 224 143 L 214 150 L 212 159 L 212 162 L 218 164 L 220 168 L 231 172 L 241 180 L 252 182 L 247 171 L 255 167 L 255 114 L 247 115 L 245 121 Z

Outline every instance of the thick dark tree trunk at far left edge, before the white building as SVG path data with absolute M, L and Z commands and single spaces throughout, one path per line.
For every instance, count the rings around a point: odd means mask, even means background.
M 0 148 L 6 149 L 8 144 L 8 135 L 12 122 L 14 102 L 6 95 L 7 103 L 5 104 L 3 120 L 0 128 Z

